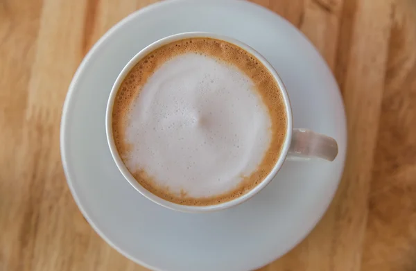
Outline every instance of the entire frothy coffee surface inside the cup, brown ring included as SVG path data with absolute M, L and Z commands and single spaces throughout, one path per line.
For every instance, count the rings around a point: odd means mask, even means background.
M 211 38 L 148 53 L 121 83 L 114 143 L 137 182 L 177 204 L 234 200 L 272 171 L 286 137 L 286 107 L 267 67 Z

